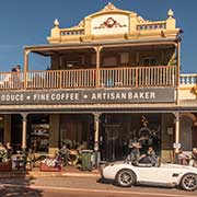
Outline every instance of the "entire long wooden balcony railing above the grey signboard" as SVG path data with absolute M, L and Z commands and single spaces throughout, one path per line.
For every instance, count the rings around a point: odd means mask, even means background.
M 176 67 L 126 67 L 83 70 L 1 72 L 0 90 L 175 86 Z

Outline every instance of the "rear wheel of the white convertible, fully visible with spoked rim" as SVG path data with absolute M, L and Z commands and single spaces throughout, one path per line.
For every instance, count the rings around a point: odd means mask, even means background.
M 136 175 L 132 171 L 124 169 L 117 173 L 116 182 L 121 187 L 130 187 L 136 183 Z

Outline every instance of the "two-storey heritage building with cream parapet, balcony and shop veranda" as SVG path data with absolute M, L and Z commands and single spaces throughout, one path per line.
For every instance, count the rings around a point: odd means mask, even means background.
M 24 48 L 24 70 L 0 73 L 0 138 L 54 153 L 63 142 L 120 160 L 131 140 L 162 161 L 197 147 L 196 74 L 181 74 L 173 11 L 148 21 L 108 3 L 77 26 L 58 20 L 47 45 Z M 50 59 L 28 69 L 30 55 Z

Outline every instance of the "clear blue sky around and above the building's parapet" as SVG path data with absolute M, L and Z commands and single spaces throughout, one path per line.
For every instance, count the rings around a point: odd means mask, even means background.
M 0 72 L 15 63 L 23 66 L 23 47 L 47 44 L 53 22 L 61 27 L 77 25 L 84 16 L 103 9 L 107 0 L 1 0 Z M 117 8 L 137 12 L 147 20 L 165 20 L 174 11 L 183 33 L 182 72 L 197 73 L 197 1 L 196 0 L 111 0 Z M 30 69 L 47 68 L 47 61 L 30 56 Z

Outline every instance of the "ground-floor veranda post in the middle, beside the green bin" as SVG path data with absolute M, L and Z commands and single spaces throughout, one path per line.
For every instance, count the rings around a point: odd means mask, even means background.
M 99 165 L 99 136 L 100 136 L 100 113 L 94 113 L 94 152 L 95 152 L 95 167 Z

